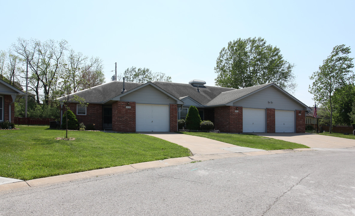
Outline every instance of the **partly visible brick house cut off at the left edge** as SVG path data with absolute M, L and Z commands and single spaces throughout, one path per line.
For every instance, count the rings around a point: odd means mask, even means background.
M 26 94 L 0 79 L 0 122 L 15 120 L 15 99 Z

